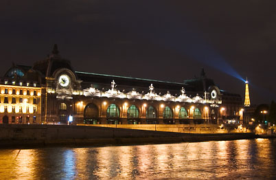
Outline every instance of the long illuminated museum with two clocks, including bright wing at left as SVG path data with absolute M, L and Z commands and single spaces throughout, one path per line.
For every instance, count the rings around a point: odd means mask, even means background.
M 3 124 L 218 124 L 242 122 L 238 94 L 199 78 L 166 82 L 74 71 L 54 45 L 34 65 L 0 79 Z

